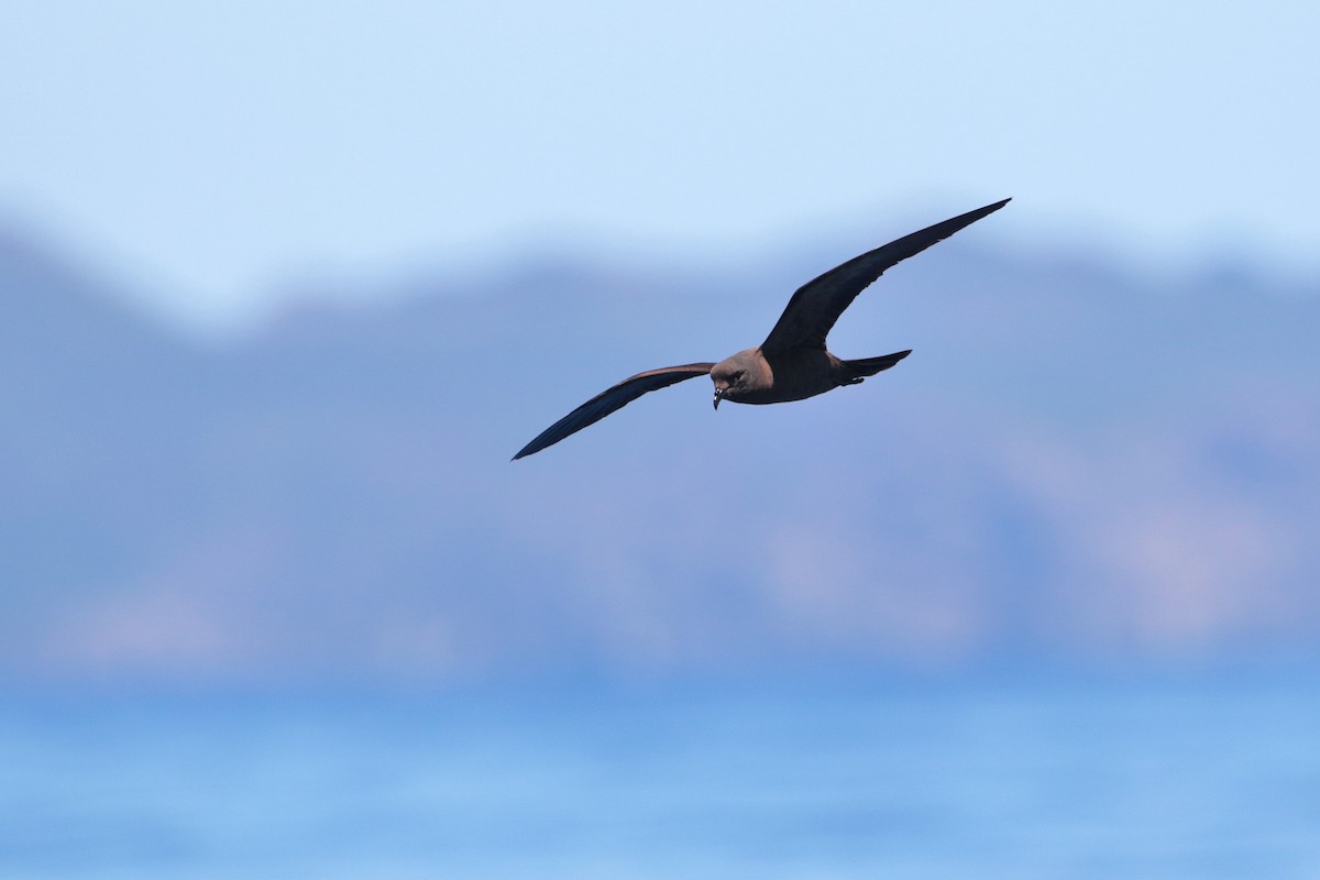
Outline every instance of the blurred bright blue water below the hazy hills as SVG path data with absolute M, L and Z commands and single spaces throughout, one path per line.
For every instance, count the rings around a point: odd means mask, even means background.
M 0 877 L 1320 877 L 1317 682 L 0 698 Z

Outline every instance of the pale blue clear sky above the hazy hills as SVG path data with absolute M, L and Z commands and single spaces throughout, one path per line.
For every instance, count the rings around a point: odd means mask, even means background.
M 1311 272 L 1320 249 L 1311 3 L 53 1 L 0 22 L 0 219 L 202 323 L 298 278 L 546 240 L 688 259 L 1005 195 L 1005 236 L 1140 260 Z

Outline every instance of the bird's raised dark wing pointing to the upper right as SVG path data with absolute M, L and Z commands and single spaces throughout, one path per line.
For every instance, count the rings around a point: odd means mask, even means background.
M 995 202 L 952 220 L 936 223 L 920 232 L 904 235 L 898 241 L 890 241 L 869 253 L 853 257 L 814 281 L 808 281 L 788 301 L 788 307 L 779 317 L 775 329 L 766 336 L 766 342 L 760 343 L 762 351 L 784 351 L 797 346 L 824 348 L 825 336 L 843 314 L 843 309 L 847 309 L 857 294 L 879 278 L 886 269 L 925 251 L 936 241 L 942 241 L 987 214 L 994 214 L 1010 201 Z

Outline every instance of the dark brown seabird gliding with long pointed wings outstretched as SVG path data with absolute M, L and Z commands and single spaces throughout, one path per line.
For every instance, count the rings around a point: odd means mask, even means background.
M 661 367 L 624 379 L 537 434 L 531 443 L 519 450 L 513 460 L 540 453 L 587 425 L 594 425 L 648 391 L 668 388 L 675 383 L 708 373 L 715 383 L 718 410 L 722 400 L 735 404 L 784 404 L 791 400 L 804 400 L 841 385 L 855 385 L 867 376 L 888 369 L 912 351 L 843 360 L 825 348 L 825 336 L 830 327 L 857 294 L 869 288 L 886 269 L 994 214 L 1008 202 L 1010 199 L 1005 199 L 960 214 L 944 223 L 904 235 L 896 241 L 853 257 L 799 288 L 759 347 L 739 351 L 718 364 Z

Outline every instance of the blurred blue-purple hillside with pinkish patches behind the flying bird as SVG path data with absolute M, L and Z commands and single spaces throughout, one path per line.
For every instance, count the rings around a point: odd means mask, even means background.
M 1315 285 L 953 240 L 832 336 L 915 348 L 892 372 L 718 413 L 693 381 L 510 463 L 853 253 L 492 265 L 222 348 L 50 253 L 0 236 L 9 681 L 1316 653 Z

